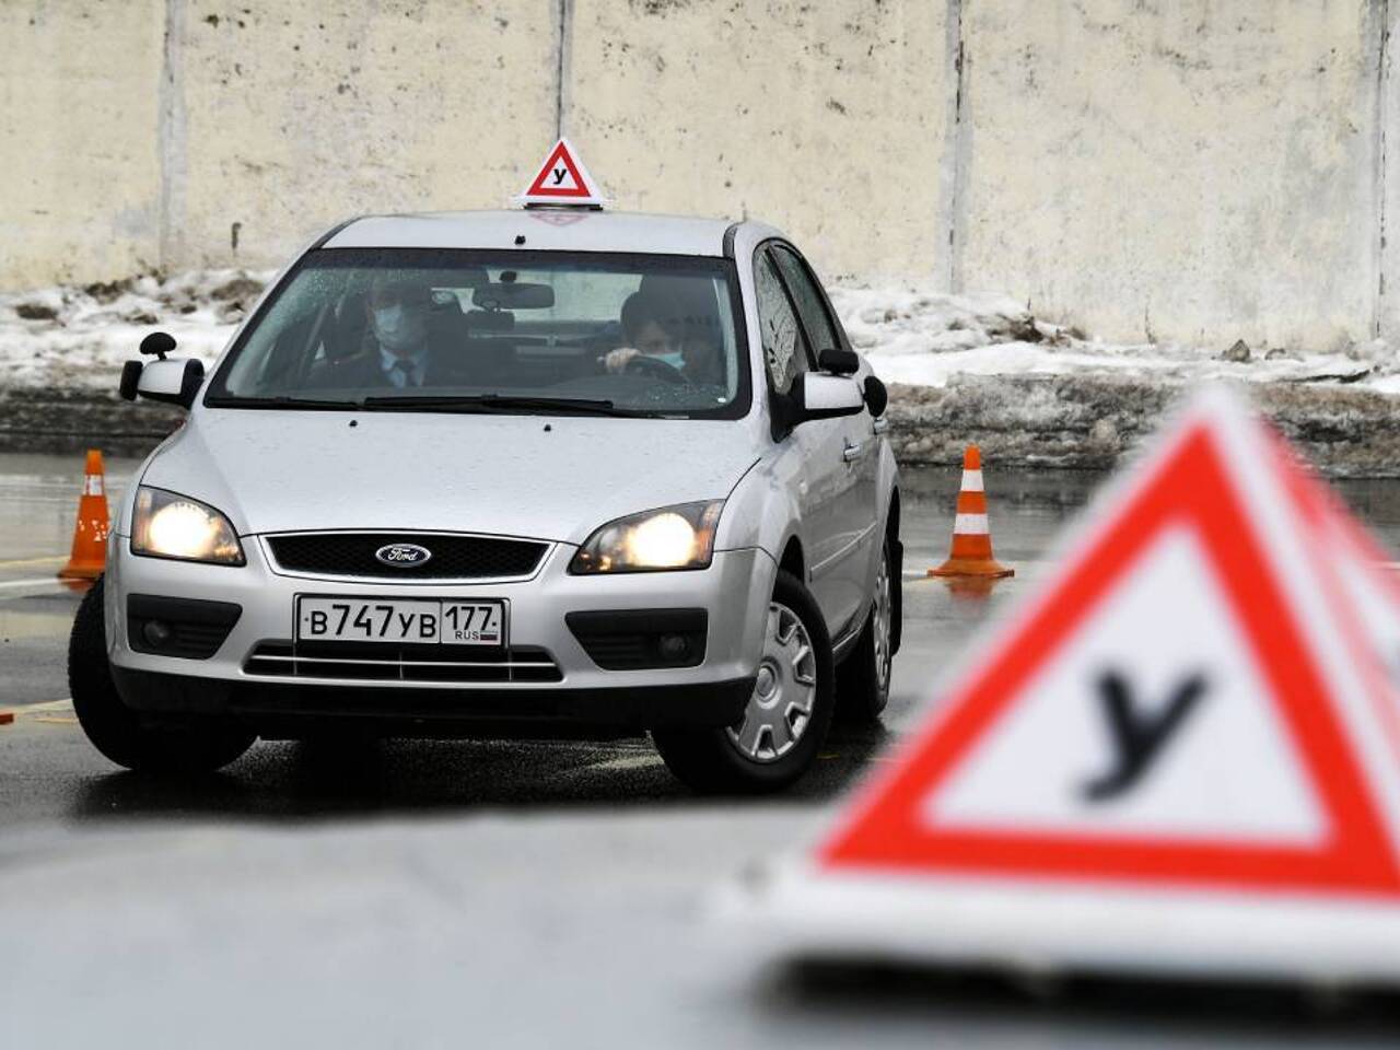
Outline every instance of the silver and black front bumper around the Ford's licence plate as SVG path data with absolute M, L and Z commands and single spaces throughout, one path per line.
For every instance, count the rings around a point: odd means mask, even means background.
M 727 725 L 752 690 L 776 566 L 755 549 L 717 552 L 707 570 L 570 575 L 574 547 L 554 545 L 536 573 L 512 582 L 424 582 L 293 575 L 276 568 L 258 538 L 245 536 L 248 564 L 203 566 L 130 553 L 113 536 L 108 554 L 106 637 L 123 700 L 150 713 L 287 718 L 409 720 L 424 724 L 574 722 L 596 725 Z M 511 650 L 545 652 L 557 680 L 441 682 L 249 673 L 249 658 L 290 645 L 297 595 L 503 598 Z M 179 658 L 130 644 L 130 595 L 224 602 L 241 613 L 213 655 Z M 629 610 L 704 610 L 704 657 L 693 666 L 606 669 L 567 619 Z M 143 648 L 148 648 L 143 645 Z M 253 668 L 266 671 L 266 664 Z

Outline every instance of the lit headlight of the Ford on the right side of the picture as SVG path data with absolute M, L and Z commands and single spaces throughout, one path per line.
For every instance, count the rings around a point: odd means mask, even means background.
M 724 500 L 682 503 L 610 521 L 578 549 L 568 571 L 651 573 L 707 568 Z

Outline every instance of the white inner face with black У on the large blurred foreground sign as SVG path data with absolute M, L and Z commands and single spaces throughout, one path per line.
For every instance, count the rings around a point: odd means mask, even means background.
M 1294 844 L 1327 830 L 1253 645 L 1184 528 L 1165 529 L 1077 624 L 925 818 Z

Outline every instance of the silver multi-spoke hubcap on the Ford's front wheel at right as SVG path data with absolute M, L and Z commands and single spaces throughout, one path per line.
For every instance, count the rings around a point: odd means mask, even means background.
M 725 731 L 729 742 L 750 762 L 777 762 L 802 739 L 815 700 L 812 638 L 795 612 L 771 602 L 753 696 L 743 718 Z

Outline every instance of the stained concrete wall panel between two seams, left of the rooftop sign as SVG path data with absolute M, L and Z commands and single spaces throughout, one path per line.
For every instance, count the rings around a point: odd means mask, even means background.
M 556 132 L 557 18 L 190 0 L 172 265 L 270 266 L 351 214 L 507 204 Z

